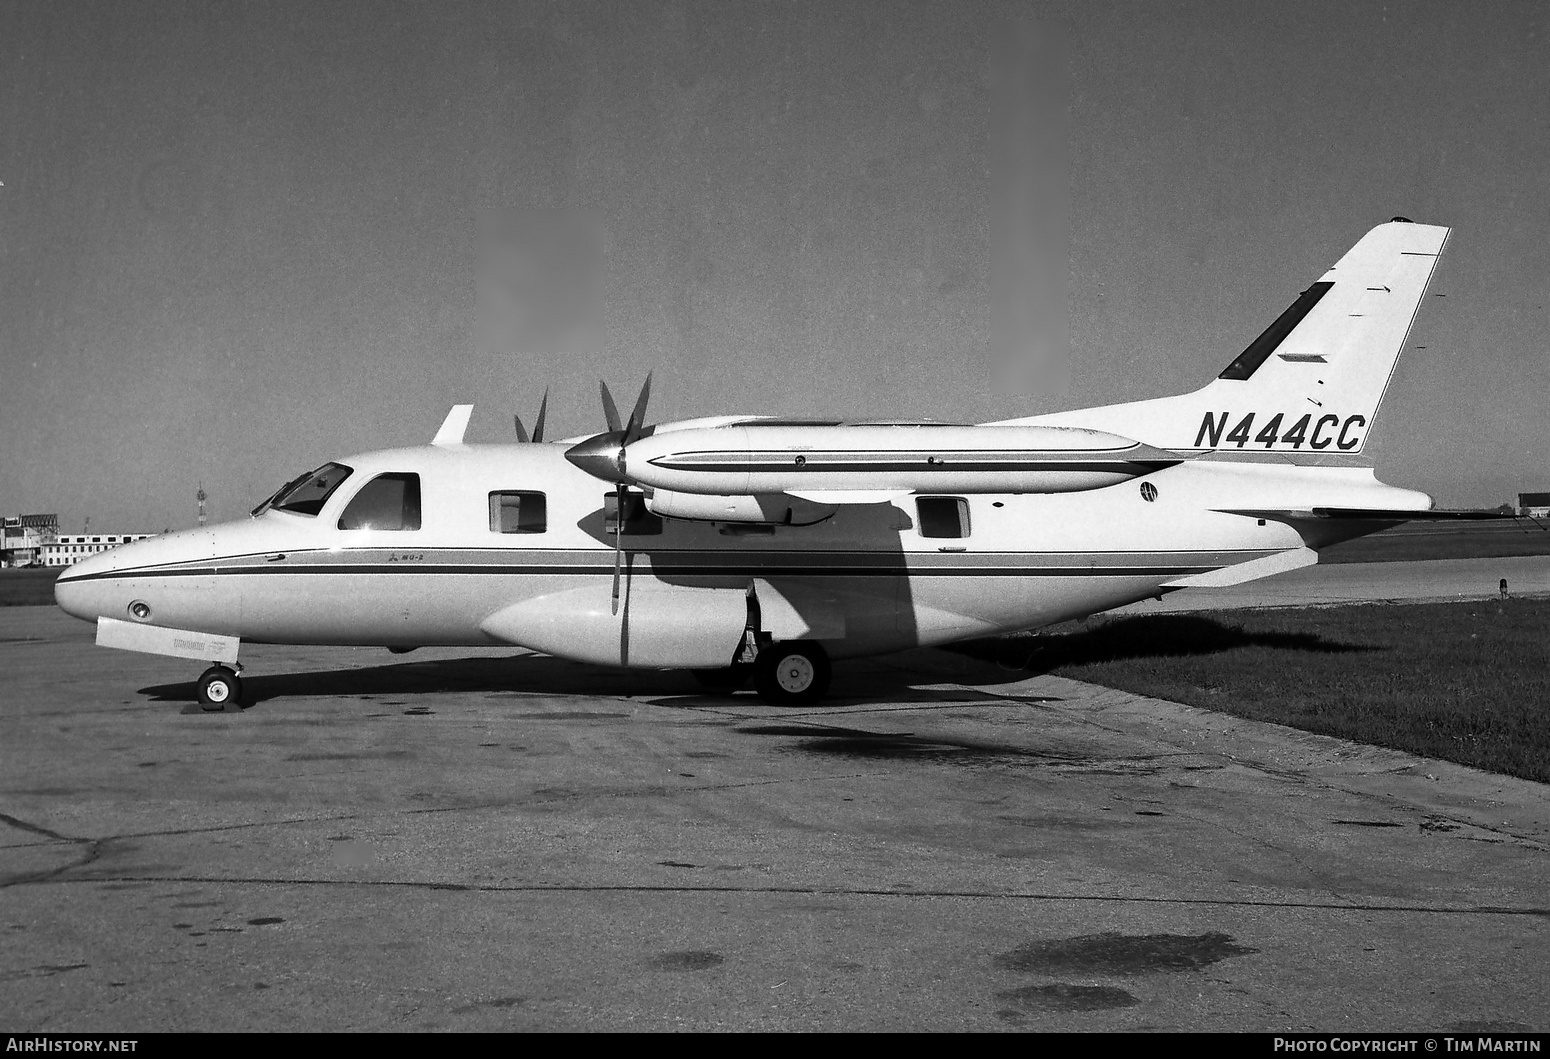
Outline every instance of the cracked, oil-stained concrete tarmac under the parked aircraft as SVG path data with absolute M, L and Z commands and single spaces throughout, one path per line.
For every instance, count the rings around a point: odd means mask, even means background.
M 0 1028 L 1550 1028 L 1550 788 L 939 651 L 777 710 L 0 612 Z

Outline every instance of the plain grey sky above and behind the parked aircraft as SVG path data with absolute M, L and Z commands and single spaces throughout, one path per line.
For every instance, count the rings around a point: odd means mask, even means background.
M 1009 163 L 997 54 L 1028 25 L 1060 78 Z M 1184 392 L 1392 216 L 1454 234 L 1367 456 L 1443 505 L 1547 490 L 1547 29 L 1462 2 L 0 2 L 0 512 L 149 532 L 203 484 L 240 518 L 457 402 L 474 442 L 546 388 L 550 437 L 603 429 L 597 381 L 628 406 L 648 371 L 653 422 Z M 491 216 L 592 225 L 591 347 L 491 336 Z M 1011 354 L 1009 229 L 1042 284 Z

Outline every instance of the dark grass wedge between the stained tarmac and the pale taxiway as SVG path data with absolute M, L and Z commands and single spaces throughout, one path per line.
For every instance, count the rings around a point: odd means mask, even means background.
M 1094 619 L 966 650 L 1550 783 L 1550 600 Z

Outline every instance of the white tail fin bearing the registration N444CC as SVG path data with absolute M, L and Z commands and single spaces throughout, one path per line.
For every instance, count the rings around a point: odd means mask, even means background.
M 1197 453 L 1359 453 L 1446 240 L 1435 225 L 1378 225 L 1192 394 L 1014 422 Z

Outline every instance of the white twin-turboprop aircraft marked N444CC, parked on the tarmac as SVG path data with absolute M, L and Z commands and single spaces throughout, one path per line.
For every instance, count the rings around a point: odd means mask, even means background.
M 1424 493 L 1353 465 L 1448 237 L 1373 228 L 1192 394 L 981 426 L 725 416 L 350 456 L 253 516 L 59 578 L 98 643 L 212 662 L 242 640 L 513 643 L 818 699 L 831 659 L 1031 630 L 1318 561 Z M 546 398 L 547 406 L 547 398 Z M 1333 459 L 1331 459 L 1333 457 Z M 1347 459 L 1341 459 L 1347 457 Z

